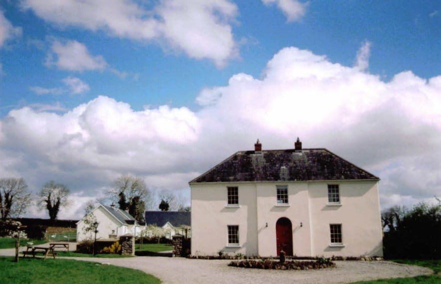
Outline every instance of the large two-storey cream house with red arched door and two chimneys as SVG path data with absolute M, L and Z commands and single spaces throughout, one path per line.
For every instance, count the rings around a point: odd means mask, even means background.
M 189 182 L 191 254 L 383 256 L 379 180 L 299 139 L 257 141 Z

